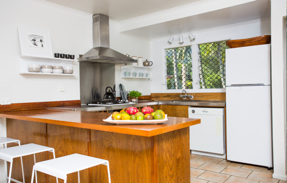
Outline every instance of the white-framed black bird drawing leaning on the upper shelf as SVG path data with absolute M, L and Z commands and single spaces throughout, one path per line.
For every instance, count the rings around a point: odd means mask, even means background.
M 49 30 L 18 24 L 18 34 L 22 55 L 53 57 Z

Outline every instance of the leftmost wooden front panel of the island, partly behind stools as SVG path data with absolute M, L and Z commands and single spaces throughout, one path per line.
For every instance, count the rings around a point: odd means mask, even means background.
M 38 123 L 33 121 L 24 121 L 24 120 L 13 120 L 6 119 L 7 124 L 7 137 L 14 138 L 20 140 L 21 145 L 34 143 L 38 145 L 46 144 L 46 124 Z M 15 143 L 7 144 L 7 147 L 16 146 Z M 52 155 L 52 152 L 40 152 L 35 154 L 36 162 L 47 160 L 47 153 Z M 24 167 L 24 178 L 26 182 L 31 182 L 32 169 L 34 166 L 34 156 L 28 155 L 23 156 L 23 167 Z M 8 171 L 9 165 L 8 163 Z M 37 173 L 38 182 L 46 183 L 45 174 L 39 172 Z M 22 177 L 22 169 L 21 169 L 21 161 L 20 158 L 13 159 L 13 167 L 12 167 L 12 178 L 23 181 Z M 35 179 L 34 179 L 35 182 Z

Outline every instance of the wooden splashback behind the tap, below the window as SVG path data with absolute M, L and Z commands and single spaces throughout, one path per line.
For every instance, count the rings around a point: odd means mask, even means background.
M 183 99 L 180 95 L 183 93 L 151 93 L 151 100 L 226 100 L 225 92 L 222 93 L 187 93 L 193 95 L 193 99 Z M 184 93 L 185 94 L 185 93 Z

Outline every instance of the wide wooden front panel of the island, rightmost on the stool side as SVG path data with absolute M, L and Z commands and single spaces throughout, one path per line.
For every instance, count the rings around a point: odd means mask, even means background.
M 108 160 L 111 182 L 151 182 L 149 137 L 91 130 L 91 156 Z M 92 183 L 107 179 L 107 167 L 92 168 Z

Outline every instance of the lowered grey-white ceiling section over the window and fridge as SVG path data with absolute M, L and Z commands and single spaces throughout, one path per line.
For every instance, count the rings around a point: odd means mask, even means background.
M 123 31 L 123 33 L 146 39 L 155 39 L 170 35 L 201 31 L 238 23 L 270 18 L 269 0 L 253 1 L 216 11 L 170 20 L 145 27 Z

